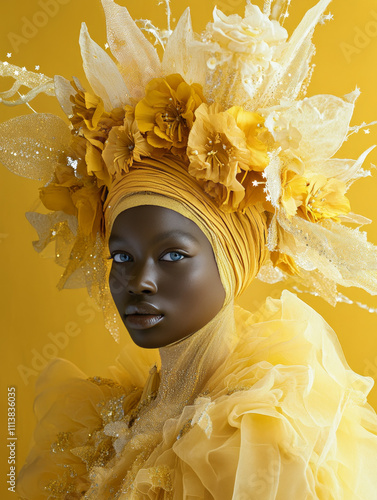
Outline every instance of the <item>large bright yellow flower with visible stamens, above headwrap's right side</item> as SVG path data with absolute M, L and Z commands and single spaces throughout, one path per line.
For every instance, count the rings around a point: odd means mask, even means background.
M 187 147 L 190 175 L 222 209 L 242 210 L 254 202 L 252 191 L 263 180 L 257 172 L 251 174 L 252 169 L 263 170 L 268 163 L 267 147 L 257 139 L 262 117 L 242 108 L 221 111 L 217 104 L 203 103 L 195 118 Z

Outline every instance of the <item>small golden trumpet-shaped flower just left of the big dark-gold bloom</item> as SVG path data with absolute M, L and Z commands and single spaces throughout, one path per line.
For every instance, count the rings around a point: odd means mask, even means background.
M 148 144 L 137 127 L 133 111 L 127 111 L 123 125 L 112 128 L 102 153 L 111 175 L 127 173 L 134 161 L 140 161 L 143 156 L 151 156 L 152 153 L 158 156 L 161 151 Z

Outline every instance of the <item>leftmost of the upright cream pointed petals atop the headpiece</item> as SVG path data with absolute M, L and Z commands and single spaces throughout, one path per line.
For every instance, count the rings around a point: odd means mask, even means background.
M 129 92 L 115 62 L 90 38 L 85 23 L 81 25 L 80 47 L 85 75 L 106 111 L 129 104 Z

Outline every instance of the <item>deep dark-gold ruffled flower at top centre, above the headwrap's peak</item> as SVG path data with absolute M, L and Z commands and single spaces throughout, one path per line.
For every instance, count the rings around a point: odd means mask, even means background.
M 184 155 L 195 110 L 203 101 L 201 86 L 188 85 L 180 75 L 154 78 L 135 108 L 139 130 L 151 146 Z

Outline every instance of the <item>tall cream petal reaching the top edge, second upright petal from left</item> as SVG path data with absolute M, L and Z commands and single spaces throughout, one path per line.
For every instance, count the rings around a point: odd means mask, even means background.
M 111 52 L 132 97 L 141 99 L 146 84 L 161 76 L 161 63 L 153 45 L 145 38 L 126 7 L 102 0 Z

